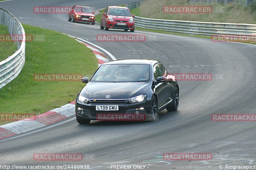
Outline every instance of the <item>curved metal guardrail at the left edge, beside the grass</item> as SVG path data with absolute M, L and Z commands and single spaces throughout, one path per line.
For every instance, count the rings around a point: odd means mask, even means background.
M 0 8 L 0 24 L 7 26 L 10 34 L 25 36 L 25 30 L 20 22 L 8 11 Z M 22 36 L 22 37 L 23 37 Z M 0 89 L 16 78 L 25 63 L 25 40 L 17 42 L 17 51 L 0 62 Z

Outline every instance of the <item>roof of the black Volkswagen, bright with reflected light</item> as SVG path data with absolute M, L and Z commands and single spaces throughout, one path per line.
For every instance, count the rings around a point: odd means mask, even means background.
M 158 63 L 159 61 L 156 60 L 147 60 L 147 59 L 125 59 L 125 60 L 115 60 L 103 63 L 102 65 L 107 64 L 148 64 L 151 63 Z

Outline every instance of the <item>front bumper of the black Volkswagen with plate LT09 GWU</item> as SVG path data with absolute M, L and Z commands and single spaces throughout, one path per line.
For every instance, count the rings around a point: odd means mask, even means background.
M 90 100 L 89 100 L 90 101 Z M 135 111 L 139 111 L 139 115 L 148 115 L 151 112 L 151 97 L 147 97 L 146 100 L 140 103 L 129 103 L 128 100 L 115 102 L 112 100 L 104 102 L 89 102 L 84 104 L 78 102 L 76 99 L 76 118 L 78 119 L 91 119 L 98 120 L 97 115 L 131 115 L 135 114 Z M 113 111 L 101 111 L 96 110 L 96 105 L 118 105 L 118 110 Z M 142 109 L 143 108 L 143 109 Z M 81 112 L 83 111 L 83 114 Z

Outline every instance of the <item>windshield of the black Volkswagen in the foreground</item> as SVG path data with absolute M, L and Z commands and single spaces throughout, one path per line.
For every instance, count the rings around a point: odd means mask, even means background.
M 92 82 L 145 82 L 150 78 L 150 65 L 109 64 L 100 66 Z

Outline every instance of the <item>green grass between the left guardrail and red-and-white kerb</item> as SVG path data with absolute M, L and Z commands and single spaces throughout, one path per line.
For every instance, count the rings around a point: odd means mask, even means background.
M 89 77 L 98 60 L 85 45 L 52 30 L 22 24 L 26 34 L 44 41 L 26 42 L 26 61 L 17 78 L 0 89 L 0 113 L 44 113 L 76 99 L 81 81 L 35 81 L 34 74 L 75 73 Z M 0 125 L 9 122 L 0 122 Z

